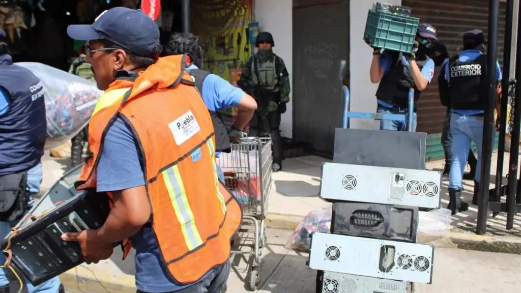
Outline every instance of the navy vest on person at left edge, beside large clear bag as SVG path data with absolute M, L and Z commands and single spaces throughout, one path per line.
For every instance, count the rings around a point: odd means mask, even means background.
M 0 65 L 0 88 L 9 94 L 9 110 L 0 116 L 0 176 L 38 164 L 47 131 L 42 82 L 30 70 L 7 64 Z

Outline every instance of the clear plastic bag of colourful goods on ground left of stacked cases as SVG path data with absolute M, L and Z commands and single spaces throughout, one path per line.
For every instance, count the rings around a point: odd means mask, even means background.
M 293 231 L 284 248 L 309 252 L 311 246 L 310 236 L 313 232 L 329 233 L 332 212 L 331 206 L 309 212 Z

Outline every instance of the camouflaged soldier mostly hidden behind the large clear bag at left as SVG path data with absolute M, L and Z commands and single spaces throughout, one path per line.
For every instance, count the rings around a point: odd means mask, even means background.
M 72 62 L 69 73 L 73 75 L 77 75 L 86 80 L 90 80 L 92 82 L 96 82 L 94 79 L 94 73 L 91 70 L 91 65 L 85 62 L 85 50 L 86 46 L 82 47 L 82 54 L 74 62 Z M 83 128 L 78 134 L 72 138 L 71 141 L 71 149 L 70 149 L 70 160 L 71 167 L 75 167 L 81 164 L 81 155 L 83 153 L 83 147 L 85 145 L 86 139 L 88 137 L 87 127 Z

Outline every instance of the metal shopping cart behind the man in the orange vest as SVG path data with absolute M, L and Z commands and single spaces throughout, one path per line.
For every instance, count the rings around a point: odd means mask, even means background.
M 254 234 L 253 251 L 232 251 L 253 254 L 250 265 L 250 289 L 255 291 L 261 273 L 261 249 L 266 244 L 266 213 L 271 190 L 271 138 L 248 137 L 232 142 L 231 153 L 221 153 L 219 166 L 225 175 L 226 187 L 242 206 L 241 231 Z

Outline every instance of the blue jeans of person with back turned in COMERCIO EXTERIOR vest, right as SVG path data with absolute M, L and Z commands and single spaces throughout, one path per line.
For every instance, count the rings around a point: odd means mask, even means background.
M 467 165 L 468 149 L 474 141 L 478 151 L 478 162 L 476 164 L 476 175 L 474 180 L 479 182 L 481 173 L 481 149 L 483 144 L 483 116 L 466 116 L 452 113 L 452 165 L 449 175 L 449 188 L 462 189 L 463 173 Z M 492 143 L 495 132 L 492 134 Z

